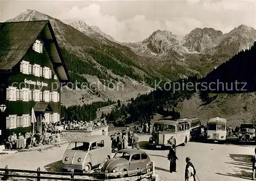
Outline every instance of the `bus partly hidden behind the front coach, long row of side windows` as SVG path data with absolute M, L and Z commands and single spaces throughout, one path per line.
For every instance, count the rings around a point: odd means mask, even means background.
M 199 138 L 201 134 L 201 121 L 196 117 L 180 118 L 177 121 L 187 121 L 190 127 L 189 141 Z

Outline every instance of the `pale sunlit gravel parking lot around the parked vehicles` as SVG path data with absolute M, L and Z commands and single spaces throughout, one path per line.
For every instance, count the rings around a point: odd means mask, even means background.
M 169 162 L 166 158 L 168 150 L 147 150 L 146 144 L 150 135 L 140 135 L 141 148 L 155 162 L 156 173 L 161 181 L 184 180 L 185 157 L 189 156 L 194 164 L 200 181 L 212 180 L 248 180 L 251 178 L 250 158 L 254 146 L 221 145 L 189 142 L 185 147 L 179 146 L 177 152 L 177 173 L 169 173 Z M 67 144 L 55 150 L 44 152 L 30 151 L 15 154 L 2 154 L 0 167 L 13 169 L 58 171 L 61 167 L 62 155 Z

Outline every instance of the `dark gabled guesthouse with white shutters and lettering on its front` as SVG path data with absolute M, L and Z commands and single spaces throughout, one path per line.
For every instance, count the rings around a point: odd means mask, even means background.
M 1 141 L 60 121 L 60 87 L 68 81 L 50 21 L 0 23 Z

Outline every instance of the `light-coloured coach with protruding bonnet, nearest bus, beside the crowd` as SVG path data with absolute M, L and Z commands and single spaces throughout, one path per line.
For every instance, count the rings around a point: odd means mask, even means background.
M 175 145 L 185 146 L 189 139 L 189 123 L 187 121 L 173 121 L 161 119 L 153 125 L 153 132 L 150 141 L 150 146 L 155 148 L 171 147 L 169 141 L 174 137 Z

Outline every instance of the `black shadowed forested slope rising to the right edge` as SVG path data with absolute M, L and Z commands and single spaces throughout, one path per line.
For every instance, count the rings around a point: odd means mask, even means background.
M 246 51 L 241 51 L 230 60 L 201 79 L 200 96 L 206 103 L 212 101 L 209 93 L 255 92 L 256 42 Z

